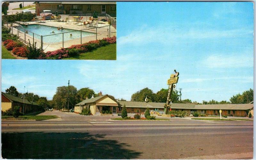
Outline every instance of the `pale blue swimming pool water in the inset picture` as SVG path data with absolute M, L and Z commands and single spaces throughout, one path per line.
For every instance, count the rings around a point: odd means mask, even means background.
M 49 36 L 44 36 L 43 37 L 43 42 L 46 43 L 56 43 L 56 42 L 62 42 L 62 34 L 60 33 L 64 33 L 64 41 L 68 41 L 68 40 L 72 40 L 72 39 L 76 39 L 76 38 L 80 38 L 81 37 L 81 31 L 77 31 L 77 30 L 72 30 L 72 29 L 63 29 L 63 30 L 58 30 L 57 27 L 50 27 L 50 26 L 44 26 L 44 25 L 37 25 L 37 24 L 33 24 L 33 25 L 22 25 L 23 28 L 25 28 L 26 30 L 30 31 L 28 32 L 29 35 L 33 36 L 36 39 L 41 40 L 41 35 L 49 35 Z M 20 29 L 21 32 L 24 32 L 24 29 Z M 54 33 L 52 33 L 52 31 L 54 31 Z M 71 32 L 73 31 L 73 32 Z M 33 32 L 33 33 L 31 33 Z M 66 32 L 70 32 L 70 33 L 66 33 Z M 38 35 L 36 35 L 38 34 Z M 70 36 L 70 34 L 72 34 L 72 36 Z M 40 36 L 39 36 L 40 35 Z M 84 32 L 82 31 L 82 37 L 86 37 L 86 36 L 90 36 L 90 35 L 95 35 L 94 33 L 89 33 L 89 32 Z

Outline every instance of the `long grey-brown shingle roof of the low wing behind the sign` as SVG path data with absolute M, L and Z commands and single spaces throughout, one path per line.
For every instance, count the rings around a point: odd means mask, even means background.
M 119 101 L 119 103 L 131 108 L 164 108 L 165 103 L 156 102 L 133 102 Z M 172 109 L 192 109 L 192 110 L 248 110 L 253 104 L 194 104 L 194 103 L 172 103 Z

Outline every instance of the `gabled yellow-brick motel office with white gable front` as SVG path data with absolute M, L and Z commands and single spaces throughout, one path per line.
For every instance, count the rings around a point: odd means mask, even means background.
M 84 101 L 75 105 L 75 113 L 81 113 L 84 108 L 91 110 L 92 115 L 103 115 L 102 111 L 111 111 L 113 115 L 118 112 L 119 102 L 111 95 L 102 95 L 98 97 L 86 98 Z

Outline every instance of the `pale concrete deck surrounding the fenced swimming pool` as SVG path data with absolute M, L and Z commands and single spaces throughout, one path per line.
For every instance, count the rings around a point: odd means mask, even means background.
M 66 29 L 73 29 L 73 30 L 82 30 L 86 31 L 86 32 L 92 32 L 92 33 L 96 33 L 96 28 L 92 28 L 92 27 L 86 27 L 84 25 L 79 25 L 79 24 L 75 24 L 75 22 L 71 21 L 70 22 L 61 22 L 61 21 L 55 21 L 55 20 L 46 20 L 43 22 L 28 22 L 28 24 L 40 24 L 40 25 L 45 25 L 45 26 L 51 26 L 51 27 L 63 27 Z M 110 28 L 110 37 L 116 36 L 116 29 L 113 26 L 109 27 L 108 22 L 102 22 L 100 21 L 98 24 L 97 28 L 97 39 L 103 39 L 103 38 L 107 38 L 109 36 L 109 28 Z M 26 28 L 25 28 L 26 29 Z M 18 30 L 16 28 L 13 28 L 13 34 L 18 34 Z M 54 35 L 51 35 L 54 36 Z M 28 40 L 30 40 L 30 42 L 33 42 L 33 36 L 26 34 L 26 38 L 23 32 L 19 32 L 19 37 L 20 39 L 23 40 L 23 42 L 25 42 L 24 40 L 26 39 L 26 43 L 28 43 Z M 44 38 L 44 37 L 43 37 Z M 50 38 L 47 36 L 47 38 Z M 91 36 L 86 36 L 86 37 L 82 37 L 82 43 L 86 43 L 92 40 L 96 40 L 96 34 L 91 35 Z M 41 39 L 36 39 L 34 37 L 34 42 L 36 42 L 36 47 L 41 47 Z M 53 51 L 53 50 L 58 50 L 60 48 L 62 48 L 62 46 L 64 46 L 64 48 L 70 47 L 71 45 L 75 45 L 75 44 L 81 44 L 81 38 L 76 38 L 73 40 L 68 40 L 62 43 L 61 42 L 56 42 L 56 43 L 47 43 L 44 42 L 43 40 L 43 50 L 44 52 L 47 51 Z

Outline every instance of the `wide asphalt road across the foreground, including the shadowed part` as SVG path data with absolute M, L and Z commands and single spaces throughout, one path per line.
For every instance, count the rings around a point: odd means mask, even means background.
M 2 121 L 2 143 L 8 159 L 252 159 L 253 122 Z

